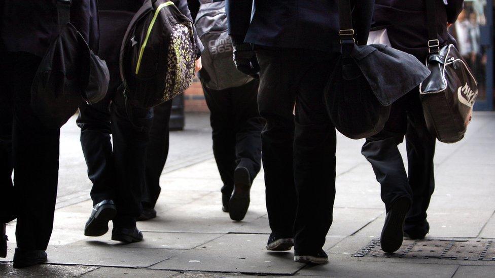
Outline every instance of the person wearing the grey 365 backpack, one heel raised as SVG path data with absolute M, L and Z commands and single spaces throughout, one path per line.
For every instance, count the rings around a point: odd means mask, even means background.
M 213 152 L 223 182 L 222 210 L 241 221 L 248 212 L 251 184 L 261 169 L 264 121 L 258 111 L 259 80 L 235 69 L 225 1 L 188 2 L 205 46 L 199 80 L 210 110 Z

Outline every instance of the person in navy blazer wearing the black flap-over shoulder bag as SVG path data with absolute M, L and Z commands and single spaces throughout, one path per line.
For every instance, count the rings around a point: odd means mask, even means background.
M 252 10 L 253 0 L 227 1 L 237 68 L 260 73 L 267 249 L 294 245 L 296 262 L 328 260 L 322 248 L 332 224 L 336 135 L 323 90 L 340 53 L 337 4 L 254 0 Z M 367 41 L 372 5 L 359 1 L 354 9 L 361 44 Z

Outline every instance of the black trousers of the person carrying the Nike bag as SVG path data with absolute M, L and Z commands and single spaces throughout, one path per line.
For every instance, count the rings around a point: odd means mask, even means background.
M 408 173 L 397 148 L 406 137 Z M 428 131 L 423 116 L 419 89 L 392 104 L 385 128 L 375 136 L 366 138 L 362 153 L 371 163 L 381 185 L 381 200 L 386 210 L 399 197 L 411 200 L 404 230 L 429 230 L 427 209 L 435 188 L 433 156 L 435 137 Z

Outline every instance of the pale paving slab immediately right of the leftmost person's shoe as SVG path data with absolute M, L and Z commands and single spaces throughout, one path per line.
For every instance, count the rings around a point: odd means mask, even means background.
M 177 255 L 181 250 L 123 248 L 104 243 L 49 246 L 48 263 L 117 267 L 148 267 Z

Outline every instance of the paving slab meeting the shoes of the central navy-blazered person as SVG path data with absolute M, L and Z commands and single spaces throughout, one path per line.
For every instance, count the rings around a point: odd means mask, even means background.
M 264 234 L 227 234 L 150 267 L 167 270 L 293 274 L 293 252 L 268 252 Z

